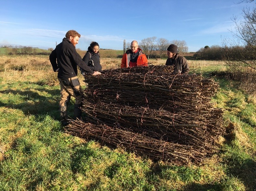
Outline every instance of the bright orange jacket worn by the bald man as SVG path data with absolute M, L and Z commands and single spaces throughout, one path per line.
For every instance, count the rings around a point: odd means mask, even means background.
M 137 66 L 147 66 L 147 57 L 145 54 L 143 54 L 142 50 L 140 48 L 138 48 L 139 51 L 139 56 L 137 59 Z M 130 67 L 130 54 L 132 54 L 131 49 L 127 50 L 126 53 L 123 55 L 122 57 L 122 61 L 121 61 L 121 68 L 128 68 Z

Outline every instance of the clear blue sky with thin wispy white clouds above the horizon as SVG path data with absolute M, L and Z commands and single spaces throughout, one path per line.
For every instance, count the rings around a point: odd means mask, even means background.
M 23 3 L 25 2 L 25 3 Z M 233 16 L 255 3 L 240 0 L 98 0 L 3 1 L 0 6 L 0 44 L 55 48 L 68 30 L 81 34 L 76 48 L 91 41 L 100 48 L 122 50 L 123 40 L 138 42 L 156 36 L 185 40 L 189 52 L 205 45 L 222 45 L 231 38 Z

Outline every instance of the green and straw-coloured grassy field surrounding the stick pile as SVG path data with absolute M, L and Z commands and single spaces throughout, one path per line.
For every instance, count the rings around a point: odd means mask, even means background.
M 239 90 L 237 82 L 211 75 L 225 71 L 224 63 L 188 60 L 192 73 L 219 82 L 212 103 L 225 109 L 227 134 L 203 163 L 174 166 L 65 133 L 59 121 L 60 87 L 48 58 L 0 57 L 0 190 L 256 189 L 256 98 Z M 149 60 L 153 65 L 165 61 Z M 101 63 L 103 69 L 117 68 L 121 58 L 102 56 Z

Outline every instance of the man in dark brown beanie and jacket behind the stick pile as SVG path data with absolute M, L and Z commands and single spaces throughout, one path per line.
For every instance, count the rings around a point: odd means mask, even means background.
M 185 57 L 178 54 L 178 47 L 174 44 L 167 48 L 168 58 L 165 65 L 173 65 L 174 73 L 184 74 L 189 71 L 188 61 Z

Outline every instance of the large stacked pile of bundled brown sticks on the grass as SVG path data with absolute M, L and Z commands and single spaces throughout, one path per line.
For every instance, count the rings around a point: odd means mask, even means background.
M 82 110 L 89 123 L 72 121 L 66 130 L 175 164 L 202 161 L 224 132 L 222 110 L 210 103 L 218 84 L 170 71 L 147 66 L 86 76 Z

